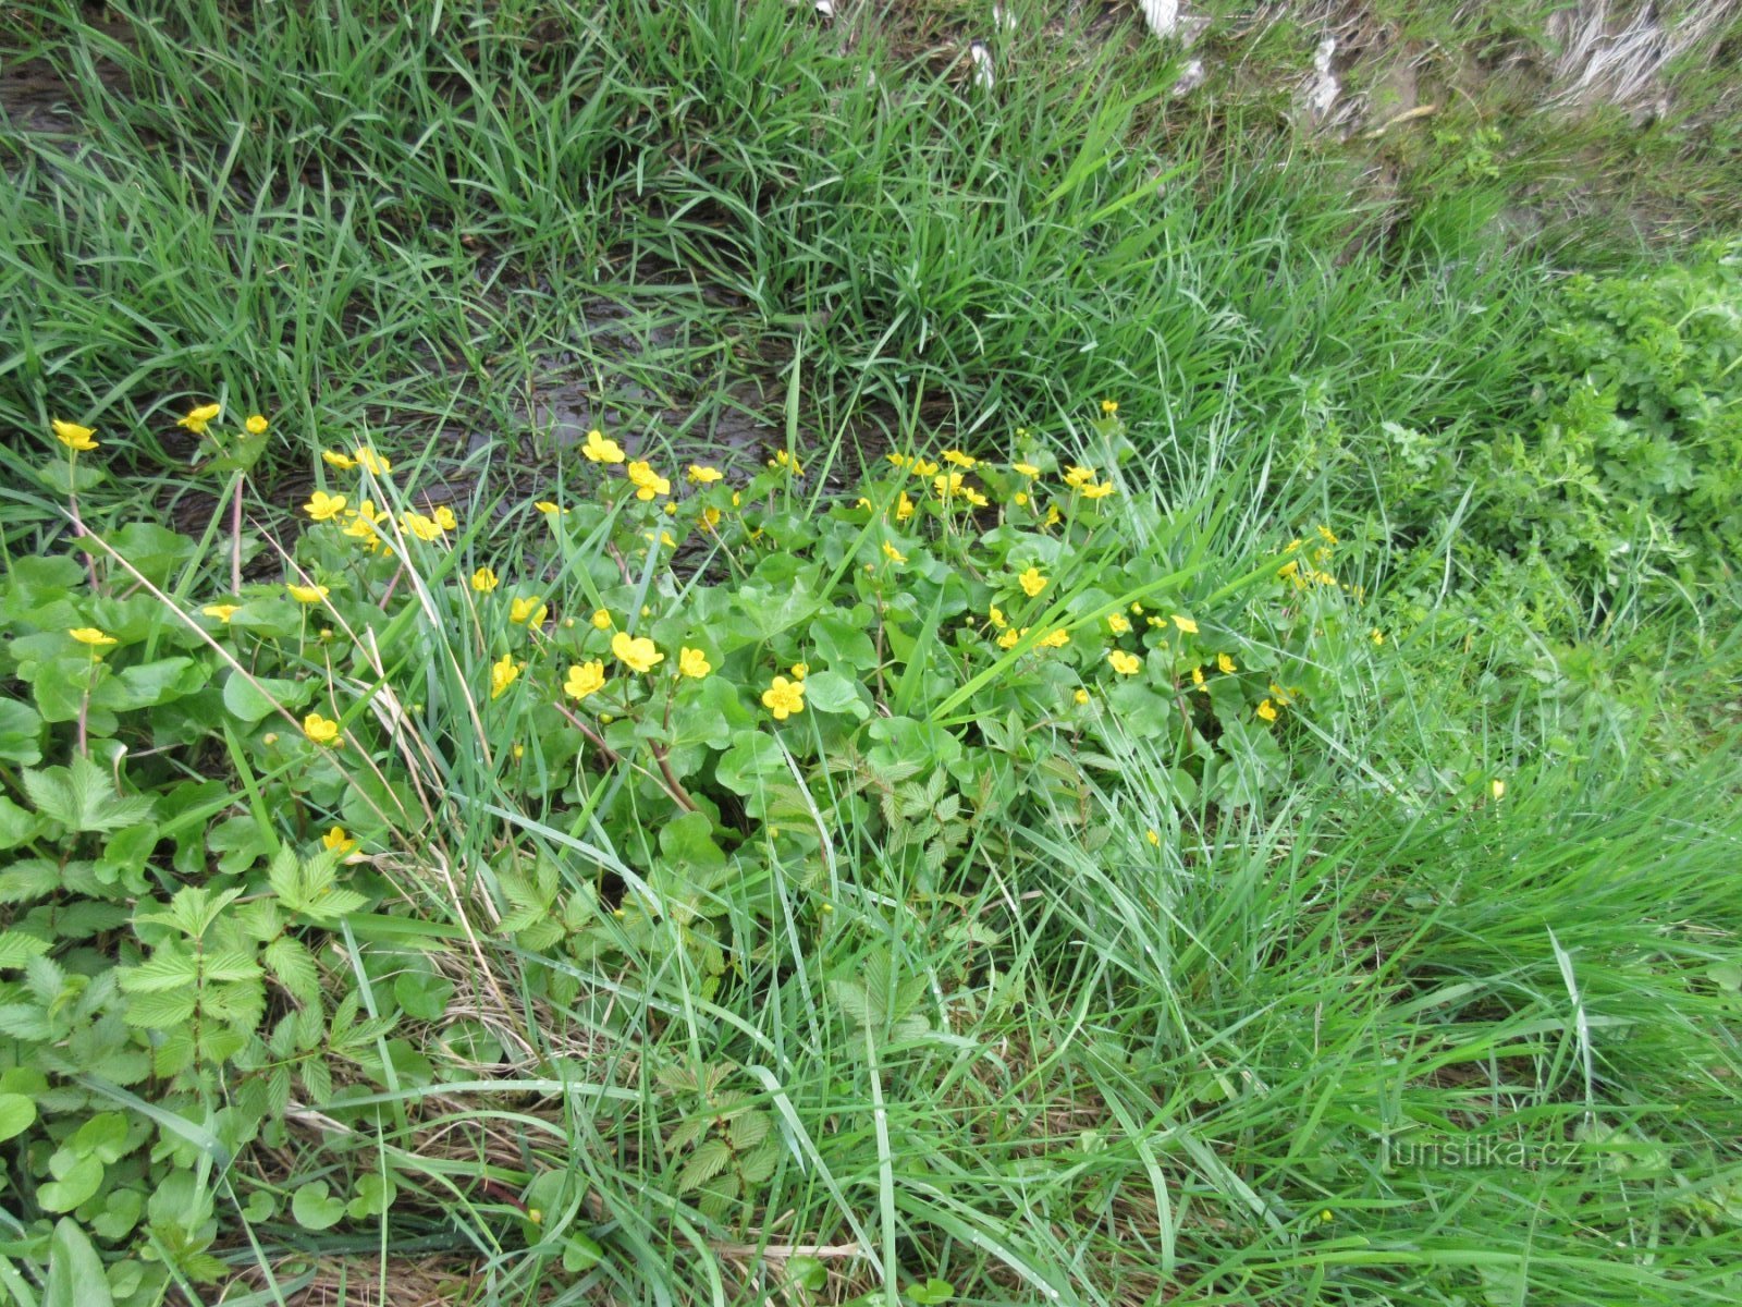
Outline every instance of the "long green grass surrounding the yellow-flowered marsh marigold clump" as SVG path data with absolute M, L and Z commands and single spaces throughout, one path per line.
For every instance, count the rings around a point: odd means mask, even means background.
M 667 465 L 791 441 L 814 484 L 888 444 L 1009 457 L 1023 427 L 1118 462 L 1225 575 L 1329 523 L 1387 634 L 1319 648 L 1324 697 L 1287 756 L 1252 755 L 1246 802 L 1200 800 L 1186 746 L 1132 739 L 1061 774 L 1052 821 L 976 831 L 925 894 L 848 826 L 772 861 L 787 929 L 728 974 L 674 948 L 570 967 L 564 997 L 481 904 L 540 856 L 584 896 L 598 831 L 584 803 L 524 802 L 537 749 L 469 725 L 490 654 L 463 593 L 422 579 L 381 673 L 418 687 L 420 737 L 474 746 L 408 739 L 420 793 L 336 803 L 404 805 L 381 871 L 415 887 L 476 1042 L 430 1039 L 415 1053 L 448 1080 L 399 1084 L 411 1063 L 376 1040 L 380 1080 L 303 1103 L 211 1180 L 226 1302 L 383 1302 L 423 1274 L 493 1305 L 894 1304 L 928 1277 L 986 1304 L 1733 1302 L 1735 596 L 1624 579 L 1592 603 L 1470 552 L 1456 516 L 1395 528 L 1411 505 L 1374 490 L 1385 422 L 1458 448 L 1528 418 L 1566 268 L 1463 239 L 1493 179 L 1456 167 L 1397 239 L 1357 159 L 1171 106 L 1158 44 L 1024 23 L 982 94 L 868 9 L 17 10 L 0 59 L 52 68 L 73 125 L 0 117 L 10 566 L 70 538 L 31 471 L 56 416 L 124 474 L 89 516 L 204 532 L 221 486 L 174 418 L 213 397 L 273 418 L 251 570 L 277 575 L 270 540 L 308 469 L 329 476 L 315 451 L 368 437 L 404 484 L 451 484 L 453 577 L 538 573 L 585 612 L 596 552 L 554 551 L 524 509 L 578 465 L 537 415 L 584 396 Z M 1103 397 L 1113 448 L 1084 416 Z M 719 451 L 746 408 L 758 439 Z M 183 594 L 228 587 L 214 538 Z M 230 816 L 317 833 L 251 802 L 233 742 L 200 762 Z M 810 931 L 789 904 L 819 877 L 836 924 Z M 415 931 L 348 929 L 371 1012 Z M 885 983 L 864 1028 L 836 997 L 855 978 Z M 925 1033 L 895 1028 L 901 1002 Z M 679 1194 L 669 1138 L 700 1091 L 671 1067 L 730 1068 L 773 1119 L 751 1222 Z M 207 1155 L 216 1121 L 190 1128 Z M 1411 1126 L 1523 1140 L 1529 1162 L 1387 1166 Z M 584 1182 L 563 1220 L 598 1267 L 528 1249 L 519 1192 L 544 1168 Z M 390 1220 L 319 1234 L 240 1208 L 249 1185 L 371 1169 L 420 1190 Z M 28 1220 L 5 1222 L 7 1267 Z M 826 1281 L 800 1290 L 810 1256 Z

